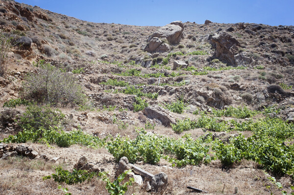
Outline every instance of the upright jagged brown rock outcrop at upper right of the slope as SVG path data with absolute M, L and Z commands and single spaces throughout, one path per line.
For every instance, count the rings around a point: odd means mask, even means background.
M 214 57 L 227 63 L 236 65 L 235 55 L 238 52 L 240 43 L 230 34 L 220 32 L 211 38 L 212 45 L 216 48 Z

